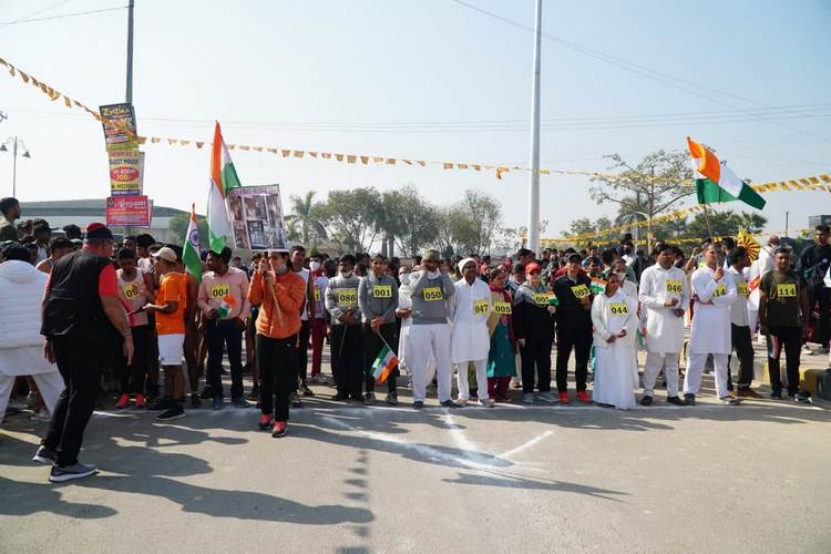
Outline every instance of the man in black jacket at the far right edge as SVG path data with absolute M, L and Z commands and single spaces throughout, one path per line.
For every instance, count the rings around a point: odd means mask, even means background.
M 831 289 L 825 286 L 824 278 L 831 265 L 831 245 L 828 244 L 828 225 L 815 227 L 815 244 L 809 246 L 799 256 L 797 273 L 806 279 L 808 285 L 808 306 L 813 309 L 819 305 L 819 321 L 814 339 L 820 345 L 820 353 L 828 353 L 829 321 L 831 320 Z

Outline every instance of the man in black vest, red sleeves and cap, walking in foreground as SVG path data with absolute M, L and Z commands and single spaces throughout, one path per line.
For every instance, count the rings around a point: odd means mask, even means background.
M 89 225 L 83 248 L 59 259 L 47 283 L 43 350 L 50 362 L 58 363 L 66 388 L 58 399 L 34 461 L 53 463 L 49 476 L 53 483 L 98 471 L 79 462 L 78 453 L 116 332 L 123 337 L 127 365 L 133 357 L 133 336 L 109 258 L 113 243 L 113 234 L 104 225 Z

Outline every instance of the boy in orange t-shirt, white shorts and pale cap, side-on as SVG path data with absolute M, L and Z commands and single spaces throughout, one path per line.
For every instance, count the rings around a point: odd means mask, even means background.
M 160 421 L 185 416 L 185 376 L 182 372 L 183 343 L 185 341 L 185 308 L 187 306 L 187 276 L 175 273 L 178 256 L 168 247 L 153 254 L 155 269 L 160 276 L 155 304 L 144 309 L 156 315 L 158 358 L 164 368 L 165 398 L 148 410 L 164 410 L 156 417 Z

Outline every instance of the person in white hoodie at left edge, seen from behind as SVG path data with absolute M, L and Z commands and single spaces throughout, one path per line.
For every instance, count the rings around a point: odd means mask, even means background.
M 29 263 L 29 250 L 18 243 L 3 248 L 0 264 L 0 421 L 19 376 L 32 376 L 47 410 L 52 413 L 64 389 L 58 366 L 43 357 L 41 301 L 49 276 Z

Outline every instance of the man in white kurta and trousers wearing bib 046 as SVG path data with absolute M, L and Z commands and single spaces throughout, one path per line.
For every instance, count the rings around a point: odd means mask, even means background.
M 674 266 L 675 248 L 657 247 L 658 263 L 640 275 L 640 309 L 646 318 L 646 367 L 644 398 L 640 406 L 650 406 L 655 380 L 664 368 L 667 402 L 684 406 L 678 398 L 678 355 L 684 346 L 684 311 L 689 305 L 689 284 L 683 269 Z

